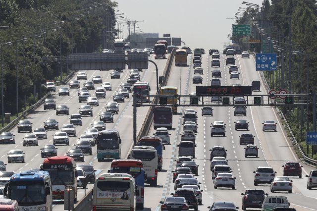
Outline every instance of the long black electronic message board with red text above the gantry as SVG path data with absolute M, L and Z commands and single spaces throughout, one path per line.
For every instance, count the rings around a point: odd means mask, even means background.
M 197 86 L 196 95 L 251 95 L 252 86 Z

